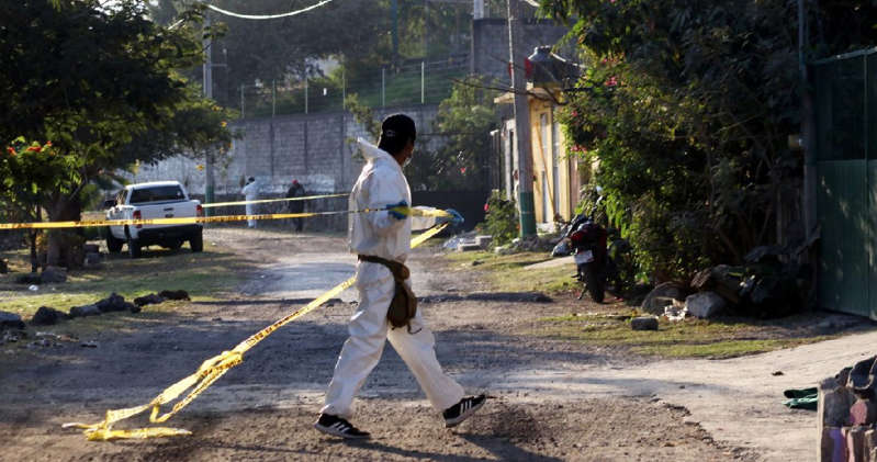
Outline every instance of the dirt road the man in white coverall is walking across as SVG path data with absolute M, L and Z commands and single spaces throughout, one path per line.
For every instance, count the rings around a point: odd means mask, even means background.
M 340 442 L 311 428 L 346 338 L 352 291 L 262 341 L 168 422 L 191 437 L 97 443 L 63 430 L 63 422 L 148 402 L 355 271 L 341 237 L 217 229 L 206 239 L 259 262 L 236 296 L 164 317 L 114 314 L 130 329 L 90 339 L 94 349 L 0 347 L 0 460 L 810 460 L 813 414 L 782 407 L 778 393 L 864 351 L 851 352 L 859 342 L 842 339 L 728 361 L 619 357 L 527 334 L 539 317 L 582 302 L 473 295 L 484 292 L 475 273 L 442 271 L 426 249 L 411 263 L 439 360 L 469 392 L 494 396 L 453 431 L 392 348 L 353 419 L 373 440 Z M 846 352 L 805 363 L 832 349 Z M 776 370 L 784 375 L 771 375 Z M 133 420 L 121 426 L 145 424 Z

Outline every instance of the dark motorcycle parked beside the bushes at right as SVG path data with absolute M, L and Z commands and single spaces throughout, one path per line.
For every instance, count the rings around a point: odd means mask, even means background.
M 576 215 L 570 222 L 563 236 L 552 253 L 561 253 L 564 246 L 571 250 L 576 267 L 575 278 L 583 284 L 578 300 L 584 297 L 585 292 L 597 303 L 603 303 L 607 291 L 621 296 L 625 278 L 612 256 L 627 258 L 630 244 L 618 238 L 607 246 L 609 233 L 593 216 L 584 214 Z

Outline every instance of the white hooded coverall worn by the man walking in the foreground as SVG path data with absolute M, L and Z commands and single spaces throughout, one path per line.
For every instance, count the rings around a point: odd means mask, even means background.
M 350 210 L 383 209 L 400 201 L 411 204 L 412 193 L 402 167 L 386 151 L 358 139 L 366 166 L 350 193 Z M 435 217 L 395 219 L 385 211 L 358 213 L 350 218 L 350 251 L 405 262 L 411 249 L 412 227 L 432 226 Z M 420 309 L 405 327 L 393 329 L 386 320 L 395 293 L 393 274 L 380 263 L 360 261 L 356 288 L 359 306 L 350 318 L 350 337 L 341 348 L 335 374 L 321 413 L 349 419 L 353 396 L 378 364 L 386 339 L 417 379 L 429 403 L 438 412 L 463 398 L 463 388 L 446 375 L 435 351 L 435 337 L 423 322 Z

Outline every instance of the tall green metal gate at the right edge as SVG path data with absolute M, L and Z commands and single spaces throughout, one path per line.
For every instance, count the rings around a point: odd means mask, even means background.
M 812 64 L 819 304 L 877 319 L 877 49 Z

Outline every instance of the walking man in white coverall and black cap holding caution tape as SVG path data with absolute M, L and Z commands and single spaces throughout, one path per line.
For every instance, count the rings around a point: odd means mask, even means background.
M 400 209 L 351 215 L 350 250 L 360 256 L 356 280 L 359 306 L 350 318 L 350 337 L 335 365 L 325 406 L 314 424 L 324 433 L 351 439 L 370 437 L 347 419 L 353 412 L 355 395 L 381 359 L 386 339 L 417 379 L 432 408 L 442 414 L 446 427 L 465 420 L 486 401 L 484 395 L 464 397 L 463 388 L 442 372 L 436 359 L 435 338 L 424 326 L 419 309 L 409 328 L 389 325 L 387 309 L 395 293 L 393 274 L 384 264 L 362 260 L 380 257 L 404 263 L 412 228 L 426 228 L 437 221 L 462 223 L 462 216 L 454 211 L 448 211 L 452 218 L 408 216 L 412 194 L 402 167 L 412 158 L 415 137 L 414 121 L 395 114 L 382 123 L 378 147 L 358 140 L 367 162 L 350 193 L 350 210 Z

